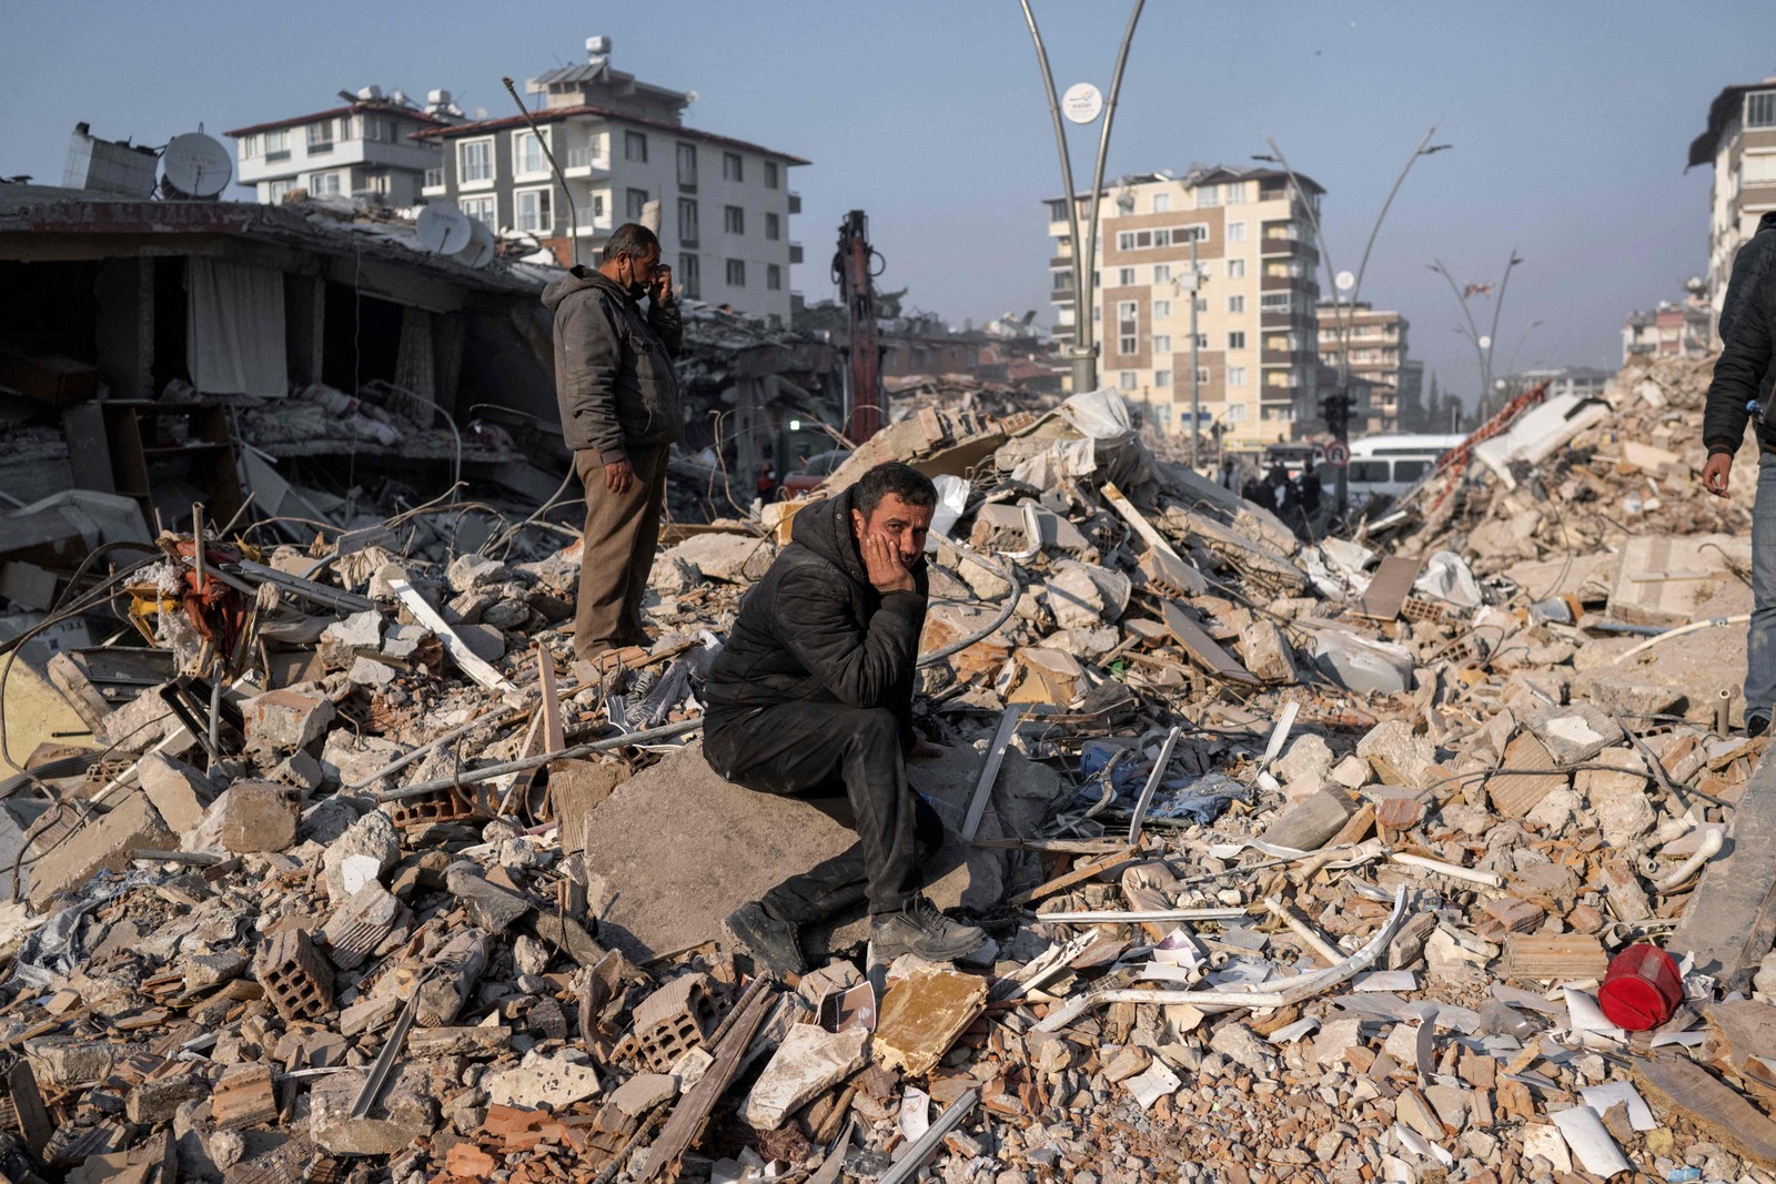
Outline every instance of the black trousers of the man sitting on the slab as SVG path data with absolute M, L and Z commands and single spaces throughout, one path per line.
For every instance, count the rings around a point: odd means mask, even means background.
M 735 785 L 805 799 L 858 833 L 845 852 L 765 893 L 783 921 L 824 921 L 865 902 L 897 912 L 920 889 L 922 856 L 943 843 L 938 813 L 908 788 L 900 722 L 886 708 L 712 708 L 703 756 Z

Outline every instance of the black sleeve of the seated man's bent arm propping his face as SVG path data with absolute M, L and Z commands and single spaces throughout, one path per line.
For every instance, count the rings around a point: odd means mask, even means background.
M 790 651 L 833 698 L 908 715 L 909 703 L 897 699 L 911 692 L 908 675 L 918 657 L 925 596 L 888 593 L 865 627 L 847 589 L 835 588 L 817 568 L 801 568 L 778 586 L 776 614 Z

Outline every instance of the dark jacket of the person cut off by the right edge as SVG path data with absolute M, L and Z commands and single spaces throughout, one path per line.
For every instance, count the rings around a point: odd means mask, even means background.
M 1764 407 L 1758 417 L 1758 446 L 1776 451 L 1776 414 L 1771 396 L 1776 387 L 1776 211 L 1758 218 L 1756 233 L 1733 256 L 1733 273 L 1721 298 L 1721 341 L 1724 350 L 1714 364 L 1709 405 L 1701 415 L 1701 440 L 1709 454 L 1737 453 L 1746 437 L 1751 405 Z

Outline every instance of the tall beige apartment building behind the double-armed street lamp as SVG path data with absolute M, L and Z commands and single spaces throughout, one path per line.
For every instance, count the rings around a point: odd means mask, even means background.
M 1320 426 L 1314 266 L 1309 206 L 1325 190 L 1295 192 L 1270 169 L 1195 167 L 1183 178 L 1121 178 L 1101 199 L 1094 261 L 1094 339 L 1101 382 L 1146 407 L 1167 433 L 1190 428 L 1190 304 L 1195 300 L 1197 398 L 1204 431 L 1256 451 Z M 1080 225 L 1090 193 L 1076 195 Z M 1073 240 L 1066 199 L 1048 202 L 1057 341 L 1073 337 Z M 1192 284 L 1195 249 L 1199 282 Z M 1192 291 L 1195 289 L 1195 291 Z

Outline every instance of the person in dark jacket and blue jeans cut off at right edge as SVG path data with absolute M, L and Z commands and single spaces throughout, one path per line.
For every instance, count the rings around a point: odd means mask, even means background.
M 1776 213 L 1758 220 L 1733 257 L 1721 300 L 1721 341 L 1701 440 L 1709 463 L 1701 485 L 1726 497 L 1733 453 L 1756 415 L 1758 478 L 1751 506 L 1751 628 L 1746 632 L 1746 735 L 1769 731 L 1776 708 Z

